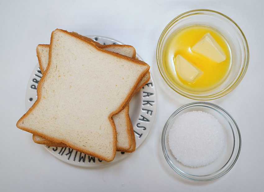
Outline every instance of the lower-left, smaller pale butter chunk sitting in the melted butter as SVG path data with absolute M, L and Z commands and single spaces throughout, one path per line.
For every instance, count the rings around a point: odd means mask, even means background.
M 200 69 L 184 59 L 181 55 L 176 56 L 174 65 L 177 75 L 190 83 L 194 82 L 203 74 Z

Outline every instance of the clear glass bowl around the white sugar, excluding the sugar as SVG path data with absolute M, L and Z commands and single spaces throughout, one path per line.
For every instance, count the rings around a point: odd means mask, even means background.
M 179 162 L 169 147 L 169 131 L 175 119 L 189 111 L 203 111 L 213 115 L 224 129 L 225 142 L 220 156 L 212 163 L 190 167 Z M 214 180 L 225 175 L 235 164 L 241 148 L 239 128 L 232 116 L 221 107 L 208 102 L 195 102 L 176 110 L 167 120 L 162 131 L 162 151 L 171 168 L 180 176 L 193 181 Z

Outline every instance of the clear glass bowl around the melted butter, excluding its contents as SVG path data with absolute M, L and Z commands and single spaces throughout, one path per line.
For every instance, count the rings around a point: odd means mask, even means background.
M 231 66 L 225 80 L 209 91 L 192 92 L 174 84 L 166 73 L 163 50 L 169 37 L 180 29 L 192 26 L 209 26 L 220 32 L 230 47 Z M 212 100 L 222 97 L 238 86 L 244 77 L 249 62 L 248 43 L 239 26 L 228 16 L 212 10 L 193 10 L 175 17 L 163 30 L 157 44 L 157 64 L 166 83 L 179 94 L 196 100 Z

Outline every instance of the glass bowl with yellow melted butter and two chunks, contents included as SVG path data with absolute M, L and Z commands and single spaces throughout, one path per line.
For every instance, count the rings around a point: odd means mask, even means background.
M 248 68 L 247 40 L 229 17 L 193 10 L 175 17 L 157 44 L 157 64 L 166 83 L 183 96 L 212 100 L 238 86 Z

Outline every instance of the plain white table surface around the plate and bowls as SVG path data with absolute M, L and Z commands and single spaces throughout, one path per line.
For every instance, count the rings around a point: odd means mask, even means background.
M 158 38 L 175 16 L 212 9 L 231 17 L 250 49 L 248 71 L 228 95 L 210 101 L 236 120 L 242 147 L 234 167 L 208 182 L 189 181 L 167 164 L 161 133 L 168 117 L 194 100 L 180 96 L 157 68 Z M 0 191 L 263 191 L 264 171 L 264 1 L 1 1 L 0 2 Z M 144 143 L 121 162 L 81 168 L 61 162 L 16 128 L 25 113 L 25 91 L 37 63 L 37 44 L 49 44 L 52 30 L 102 35 L 135 47 L 151 66 L 157 88 L 157 116 Z

